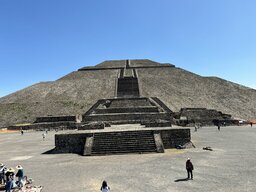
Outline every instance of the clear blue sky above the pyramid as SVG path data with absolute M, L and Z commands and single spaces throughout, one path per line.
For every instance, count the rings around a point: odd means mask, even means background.
M 256 88 L 255 0 L 0 0 L 0 97 L 109 59 Z

